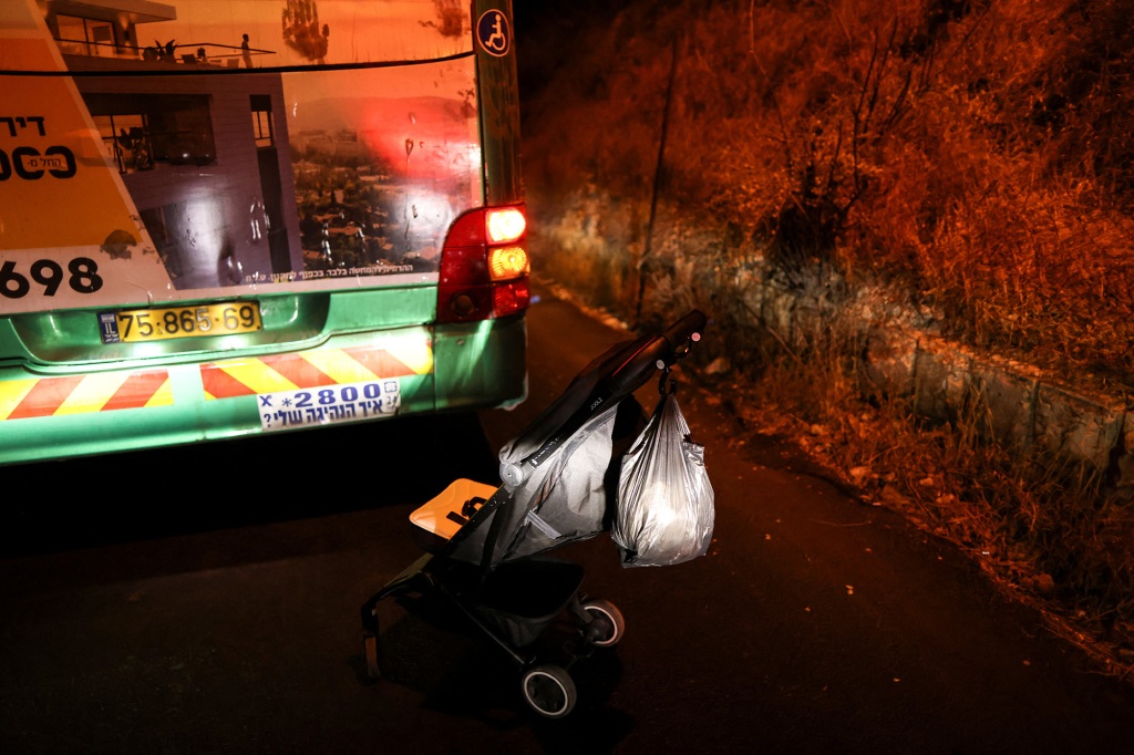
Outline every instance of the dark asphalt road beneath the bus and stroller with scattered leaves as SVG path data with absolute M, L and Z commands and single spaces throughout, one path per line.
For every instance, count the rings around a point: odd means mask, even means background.
M 0 470 L 0 752 L 1127 750 L 1134 688 L 949 545 L 739 435 L 689 372 L 713 545 L 636 569 L 606 535 L 566 549 L 627 622 L 573 669 L 574 713 L 536 719 L 496 648 L 389 601 L 370 681 L 358 609 L 420 554 L 408 514 L 496 482 L 494 449 L 625 338 L 540 294 L 514 412 Z

